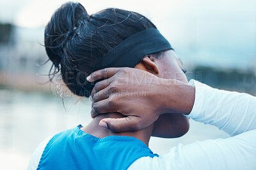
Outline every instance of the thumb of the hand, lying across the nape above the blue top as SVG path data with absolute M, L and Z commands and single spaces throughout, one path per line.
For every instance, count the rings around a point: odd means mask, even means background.
M 113 132 L 138 131 L 142 129 L 140 125 L 140 117 L 124 117 L 124 118 L 103 118 L 99 125 L 107 127 Z

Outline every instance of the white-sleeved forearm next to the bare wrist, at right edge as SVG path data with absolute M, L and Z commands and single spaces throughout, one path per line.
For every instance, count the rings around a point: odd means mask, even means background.
M 195 105 L 188 117 L 215 125 L 231 136 L 256 129 L 256 97 L 193 83 Z

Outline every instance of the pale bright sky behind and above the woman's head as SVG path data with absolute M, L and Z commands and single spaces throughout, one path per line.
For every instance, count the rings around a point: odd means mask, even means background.
M 1 0 L 0 22 L 44 27 L 61 0 Z M 81 0 L 89 14 L 108 7 L 148 17 L 178 54 L 196 63 L 248 67 L 256 63 L 255 0 Z M 256 65 L 256 64 L 255 64 Z

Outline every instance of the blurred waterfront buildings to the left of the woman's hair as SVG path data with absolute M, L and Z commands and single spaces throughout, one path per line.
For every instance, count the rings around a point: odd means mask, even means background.
M 6 26 L 8 25 L 8 26 Z M 0 32 L 0 85 L 21 89 L 45 89 L 49 67 L 39 66 L 47 60 L 44 28 L 23 28 L 2 24 Z

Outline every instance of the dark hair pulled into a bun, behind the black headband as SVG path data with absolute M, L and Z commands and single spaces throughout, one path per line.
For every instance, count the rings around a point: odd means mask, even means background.
M 68 2 L 45 27 L 45 49 L 68 89 L 90 96 L 86 76 L 116 45 L 136 32 L 156 26 L 139 13 L 107 8 L 88 15 L 80 3 Z

